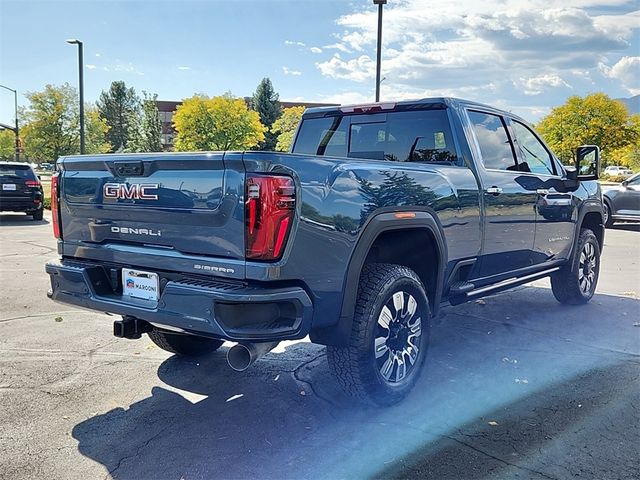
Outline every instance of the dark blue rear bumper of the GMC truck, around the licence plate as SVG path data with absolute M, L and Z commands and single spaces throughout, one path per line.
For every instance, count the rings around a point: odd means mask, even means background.
M 311 327 L 313 306 L 300 287 L 163 280 L 159 300 L 151 302 L 119 294 L 99 265 L 60 260 L 47 263 L 46 272 L 53 300 L 173 330 L 233 341 L 275 341 L 302 338 Z

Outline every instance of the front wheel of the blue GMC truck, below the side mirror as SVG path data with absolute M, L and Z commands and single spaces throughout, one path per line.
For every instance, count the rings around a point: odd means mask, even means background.
M 553 295 L 560 303 L 580 305 L 593 297 L 600 275 L 600 244 L 588 228 L 580 231 L 570 263 L 551 276 Z

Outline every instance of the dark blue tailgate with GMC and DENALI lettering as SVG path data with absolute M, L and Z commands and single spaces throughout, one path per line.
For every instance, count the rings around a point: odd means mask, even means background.
M 63 254 L 242 277 L 244 177 L 233 153 L 66 157 Z

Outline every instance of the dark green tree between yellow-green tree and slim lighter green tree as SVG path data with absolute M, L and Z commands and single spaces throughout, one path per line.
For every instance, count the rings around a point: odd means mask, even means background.
M 96 104 L 109 127 L 107 140 L 111 151 L 125 150 L 140 115 L 140 98 L 135 90 L 127 88 L 123 81 L 112 82 L 109 90 L 102 91 Z

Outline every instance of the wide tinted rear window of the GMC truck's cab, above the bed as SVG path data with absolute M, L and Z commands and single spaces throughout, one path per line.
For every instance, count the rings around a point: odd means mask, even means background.
M 446 110 L 303 120 L 293 153 L 394 162 L 457 163 Z

